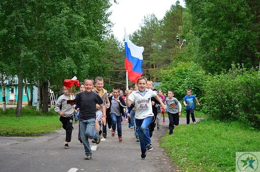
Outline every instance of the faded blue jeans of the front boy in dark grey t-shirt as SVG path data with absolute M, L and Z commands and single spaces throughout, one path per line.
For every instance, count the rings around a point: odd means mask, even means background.
M 81 140 L 84 145 L 84 148 L 85 148 L 86 155 L 92 154 L 88 139 L 96 139 L 99 134 L 96 130 L 94 130 L 95 121 L 96 121 L 96 118 L 79 121 L 80 136 L 81 136 Z

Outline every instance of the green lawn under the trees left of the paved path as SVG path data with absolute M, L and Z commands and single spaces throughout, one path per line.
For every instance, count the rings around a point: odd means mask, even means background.
M 16 109 L 0 109 L 0 135 L 1 136 L 37 136 L 42 133 L 53 133 L 60 129 L 62 123 L 59 115 L 54 112 L 36 113 L 35 107 L 25 106 L 22 109 L 22 117 L 16 117 Z

